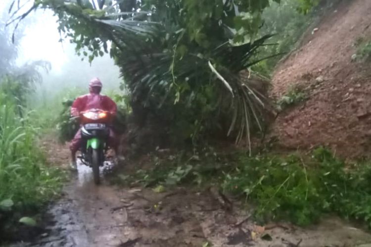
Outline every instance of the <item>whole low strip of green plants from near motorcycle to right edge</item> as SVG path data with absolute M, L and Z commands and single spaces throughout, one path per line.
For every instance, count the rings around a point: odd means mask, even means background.
M 371 163 L 347 164 L 326 148 L 311 155 L 203 153 L 154 155 L 149 169 L 118 175 L 116 182 L 167 190 L 173 185 L 220 186 L 254 208 L 264 223 L 288 220 L 306 226 L 327 213 L 359 219 L 371 227 Z

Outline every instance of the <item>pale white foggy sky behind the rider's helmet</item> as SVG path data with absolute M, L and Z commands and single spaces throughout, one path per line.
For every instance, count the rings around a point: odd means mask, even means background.
M 5 20 L 8 17 L 7 10 L 10 2 L 0 0 L 0 13 L 3 13 L 2 18 Z M 98 77 L 102 81 L 103 93 L 118 89 L 122 79 L 119 78 L 119 69 L 114 65 L 113 59 L 105 54 L 103 57 L 95 58 L 91 65 L 87 59 L 81 61 L 82 57 L 76 54 L 74 44 L 71 44 L 68 39 L 59 41 L 61 37 L 56 21 L 57 18 L 50 10 L 39 9 L 22 20 L 20 31 L 15 36 L 18 48 L 16 65 L 21 66 L 35 60 L 45 60 L 51 64 L 48 73 L 42 72 L 43 82 L 38 88 L 39 93 L 53 97 L 60 94 L 62 90 L 75 87 L 87 88 L 93 77 Z M 6 29 L 8 32 L 13 32 L 12 27 Z

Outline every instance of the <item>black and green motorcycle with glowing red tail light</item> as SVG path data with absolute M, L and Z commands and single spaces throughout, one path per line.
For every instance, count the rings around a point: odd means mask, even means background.
M 81 137 L 80 148 L 81 162 L 93 169 L 94 183 L 100 183 L 99 167 L 104 165 L 108 151 L 107 139 L 109 127 L 106 124 L 109 113 L 99 109 L 91 109 L 81 113 Z

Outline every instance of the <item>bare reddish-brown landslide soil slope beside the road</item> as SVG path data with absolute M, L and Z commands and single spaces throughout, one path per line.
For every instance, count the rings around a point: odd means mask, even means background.
M 371 1 L 345 0 L 308 30 L 302 46 L 277 68 L 273 94 L 291 86 L 309 99 L 278 115 L 272 136 L 284 149 L 330 147 L 347 158 L 371 151 L 370 63 L 352 62 L 359 38 L 371 39 Z

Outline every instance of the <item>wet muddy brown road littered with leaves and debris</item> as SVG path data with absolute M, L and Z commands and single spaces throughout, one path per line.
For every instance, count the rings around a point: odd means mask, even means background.
M 68 150 L 58 148 L 64 150 L 59 160 L 67 161 Z M 370 234 L 337 218 L 324 219 L 307 229 L 289 224 L 259 227 L 248 209 L 240 210 L 233 202 L 233 210 L 225 210 L 209 190 L 176 187 L 155 193 L 147 188 L 115 187 L 104 179 L 95 186 L 91 170 L 78 167 L 65 185 L 62 199 L 49 207 L 51 220 L 45 233 L 33 243 L 15 246 L 371 246 L 367 245 Z M 261 239 L 264 235 L 267 240 Z

